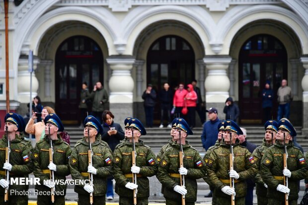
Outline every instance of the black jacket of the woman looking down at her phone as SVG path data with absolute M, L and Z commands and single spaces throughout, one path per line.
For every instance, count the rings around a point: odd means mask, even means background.
M 110 126 L 108 126 L 106 123 L 103 123 L 102 127 L 103 127 L 103 133 L 101 135 L 102 140 L 107 142 L 111 150 L 114 151 L 114 148 L 116 147 L 117 144 L 120 143 L 120 140 L 124 139 L 124 132 L 119 123 L 112 122 Z M 110 128 L 115 128 L 117 134 L 109 136 L 107 132 L 110 130 Z

